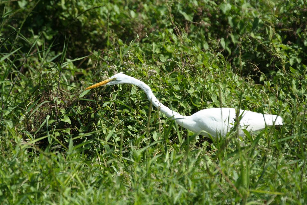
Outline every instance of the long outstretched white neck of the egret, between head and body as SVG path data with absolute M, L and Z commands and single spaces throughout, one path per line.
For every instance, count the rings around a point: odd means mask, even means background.
M 155 106 L 156 108 L 160 109 L 161 112 L 163 112 L 167 117 L 172 117 L 175 119 L 178 123 L 178 121 L 182 121 L 180 119 L 184 119 L 186 116 L 182 116 L 178 112 L 175 112 L 168 107 L 166 107 L 164 104 L 162 104 L 158 99 L 153 95 L 153 92 L 151 91 L 150 87 L 143 83 L 142 81 L 135 79 L 133 81 L 133 84 L 144 90 L 144 92 L 147 95 L 148 100 Z M 181 123 L 180 123 L 181 124 Z

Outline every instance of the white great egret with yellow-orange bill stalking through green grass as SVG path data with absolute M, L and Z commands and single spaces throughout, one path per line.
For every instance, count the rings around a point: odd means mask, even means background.
M 148 85 L 123 73 L 115 74 L 105 81 L 86 88 L 86 90 L 102 85 L 115 85 L 120 83 L 133 84 L 141 88 L 146 93 L 148 100 L 151 101 L 156 108 L 160 109 L 167 117 L 176 120 L 177 124 L 180 126 L 192 132 L 200 133 L 207 137 L 211 135 L 216 138 L 218 136 L 225 136 L 234 126 L 236 119 L 235 108 L 209 108 L 200 110 L 191 116 L 183 116 L 159 102 Z M 239 114 L 240 136 L 244 136 L 242 129 L 253 132 L 264 129 L 266 125 L 282 125 L 282 118 L 277 115 L 261 114 L 247 110 L 240 110 Z

